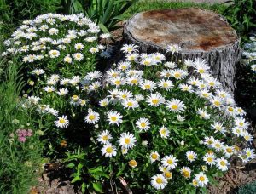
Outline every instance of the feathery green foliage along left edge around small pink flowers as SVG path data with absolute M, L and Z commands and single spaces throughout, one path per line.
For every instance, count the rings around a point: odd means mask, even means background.
M 2 65 L 5 60 L 1 60 Z M 17 64 L 9 63 L 5 82 L 0 84 L 0 192 L 28 193 L 36 184 L 42 143 L 36 134 L 31 112 L 20 106 L 18 98 L 24 86 Z M 32 136 L 20 142 L 18 128 L 32 129 Z

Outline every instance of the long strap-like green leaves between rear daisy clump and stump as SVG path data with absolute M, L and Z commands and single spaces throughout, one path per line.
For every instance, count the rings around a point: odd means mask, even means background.
M 67 14 L 84 12 L 94 20 L 104 32 L 117 29 L 118 22 L 124 20 L 123 13 L 137 0 L 64 0 L 63 8 Z

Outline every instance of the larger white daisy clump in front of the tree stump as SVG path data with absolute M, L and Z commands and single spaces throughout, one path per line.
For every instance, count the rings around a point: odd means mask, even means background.
M 175 64 L 160 53 L 138 54 L 136 45 L 121 50 L 126 60 L 106 72 L 99 107 L 92 108 L 101 117 L 93 123 L 95 149 L 113 172 L 141 190 L 191 191 L 226 172 L 231 157 L 255 157 L 245 112 L 205 60 Z

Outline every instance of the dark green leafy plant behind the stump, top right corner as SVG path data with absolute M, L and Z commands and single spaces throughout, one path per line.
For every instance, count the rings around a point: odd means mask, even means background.
M 256 1 L 234 0 L 227 3 L 230 5 L 224 9 L 224 16 L 236 29 L 242 41 L 247 40 L 247 34 L 256 27 Z

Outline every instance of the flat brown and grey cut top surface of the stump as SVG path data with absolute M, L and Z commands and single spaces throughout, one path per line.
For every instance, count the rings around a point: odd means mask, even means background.
M 236 31 L 221 17 L 204 9 L 160 9 L 133 16 L 126 33 L 138 42 L 166 48 L 179 44 L 183 51 L 226 48 L 238 40 Z

